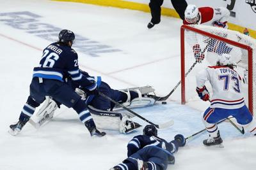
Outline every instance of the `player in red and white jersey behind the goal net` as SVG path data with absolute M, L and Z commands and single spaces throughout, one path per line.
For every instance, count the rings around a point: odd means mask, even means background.
M 219 7 L 219 8 L 211 8 L 211 7 L 200 7 L 197 8 L 195 4 L 189 4 L 185 10 L 185 19 L 183 20 L 183 24 L 185 25 L 194 25 L 194 24 L 202 24 L 202 25 L 211 25 L 214 27 L 221 27 L 227 29 L 228 17 L 230 15 L 230 11 L 227 8 Z M 207 43 L 207 51 L 212 52 L 212 50 L 216 50 L 214 53 L 227 53 L 230 49 L 226 49 L 227 45 L 225 43 L 219 43 L 216 39 L 205 39 L 205 43 Z M 195 59 L 198 62 L 201 62 L 205 54 L 199 45 L 197 40 L 197 36 L 195 32 L 189 33 L 188 39 L 189 45 L 193 46 L 193 52 Z M 231 48 L 232 49 L 232 48 Z M 220 54 L 219 54 L 220 55 Z

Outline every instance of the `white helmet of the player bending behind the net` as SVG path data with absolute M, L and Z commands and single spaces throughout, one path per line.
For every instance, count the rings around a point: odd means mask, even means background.
M 189 4 L 185 10 L 185 20 L 189 24 L 197 24 L 199 20 L 199 10 L 195 4 Z

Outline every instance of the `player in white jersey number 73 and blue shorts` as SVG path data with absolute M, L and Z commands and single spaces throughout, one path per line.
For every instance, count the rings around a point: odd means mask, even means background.
M 205 146 L 222 146 L 217 122 L 232 116 L 237 123 L 252 134 L 256 134 L 256 123 L 252 114 L 244 104 L 241 92 L 241 77 L 234 70 L 236 63 L 232 57 L 223 53 L 216 66 L 207 67 L 196 76 L 196 92 L 203 101 L 210 101 L 205 81 L 212 86 L 211 106 L 203 114 L 204 125 L 209 132 L 209 139 L 203 141 Z

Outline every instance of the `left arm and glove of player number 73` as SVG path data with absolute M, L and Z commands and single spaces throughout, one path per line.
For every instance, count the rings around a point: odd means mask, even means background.
M 196 92 L 203 101 L 208 101 L 210 97 L 209 91 L 205 87 L 205 82 L 207 80 L 209 80 L 209 72 L 207 69 L 200 71 L 196 75 Z

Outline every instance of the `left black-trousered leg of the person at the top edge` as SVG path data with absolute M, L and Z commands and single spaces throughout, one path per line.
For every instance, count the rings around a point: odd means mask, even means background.
M 151 12 L 151 21 L 148 23 L 148 29 L 154 27 L 155 24 L 159 24 L 161 20 L 161 5 L 163 0 L 150 0 L 149 8 Z

